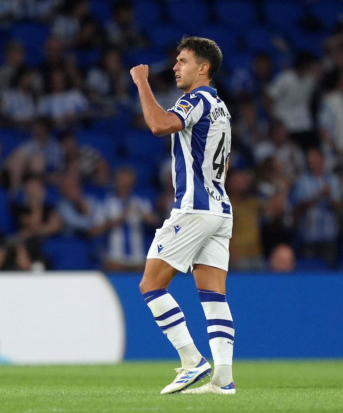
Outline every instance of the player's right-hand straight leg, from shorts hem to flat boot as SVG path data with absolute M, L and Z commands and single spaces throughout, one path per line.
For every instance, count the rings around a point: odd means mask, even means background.
M 204 264 L 195 264 L 195 284 L 207 318 L 207 332 L 214 360 L 210 383 L 186 393 L 234 394 L 232 379 L 233 321 L 225 297 L 226 271 Z

